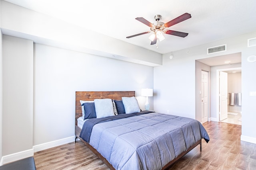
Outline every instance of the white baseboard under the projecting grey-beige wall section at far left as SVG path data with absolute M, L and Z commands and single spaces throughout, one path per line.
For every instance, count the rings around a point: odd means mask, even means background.
M 28 150 L 24 150 L 24 151 L 21 151 L 21 152 L 8 154 L 8 155 L 2 157 L 2 164 L 7 164 L 9 162 L 13 162 L 13 161 L 16 161 L 16 160 L 28 158 L 30 156 L 34 156 L 34 150 L 33 149 L 28 149 Z

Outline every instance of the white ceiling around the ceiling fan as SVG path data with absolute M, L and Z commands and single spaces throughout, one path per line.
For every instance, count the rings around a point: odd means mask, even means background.
M 210 43 L 256 30 L 256 0 L 6 0 L 160 54 Z M 154 22 L 156 14 L 166 23 L 184 13 L 192 18 L 168 29 L 188 33 L 187 37 L 165 34 L 165 39 L 150 45 L 150 31 L 135 20 Z M 75 30 L 74 30 L 75 31 Z

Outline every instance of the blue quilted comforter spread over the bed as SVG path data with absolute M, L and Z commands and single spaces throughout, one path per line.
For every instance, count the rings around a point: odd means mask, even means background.
M 200 139 L 210 140 L 199 121 L 186 117 L 162 113 L 117 117 L 91 125 L 88 141 L 117 170 L 162 169 Z M 88 124 L 94 123 L 84 123 L 80 133 L 84 140 Z

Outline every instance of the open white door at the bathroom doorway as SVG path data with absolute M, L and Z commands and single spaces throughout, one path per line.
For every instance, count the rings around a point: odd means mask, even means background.
M 220 121 L 228 118 L 228 73 L 220 71 Z

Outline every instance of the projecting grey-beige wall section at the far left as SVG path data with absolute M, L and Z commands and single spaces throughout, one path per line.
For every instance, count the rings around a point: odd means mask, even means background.
M 33 41 L 3 35 L 3 152 L 33 148 Z

